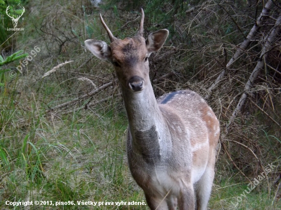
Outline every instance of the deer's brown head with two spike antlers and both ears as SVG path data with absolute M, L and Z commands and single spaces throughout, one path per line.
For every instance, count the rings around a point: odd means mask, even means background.
M 89 39 L 85 41 L 85 46 L 99 59 L 109 60 L 113 64 L 124 91 L 139 93 L 150 83 L 148 57 L 162 47 L 169 31 L 162 29 L 151 33 L 145 39 L 143 37 L 145 15 L 142 9 L 137 35 L 121 40 L 113 36 L 101 14 L 100 18 L 111 41 L 110 45 L 104 41 Z

